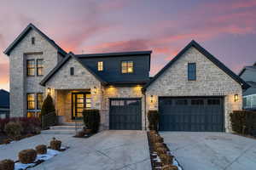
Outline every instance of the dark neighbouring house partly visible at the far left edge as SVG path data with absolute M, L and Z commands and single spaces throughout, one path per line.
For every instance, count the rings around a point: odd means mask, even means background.
M 0 118 L 9 117 L 9 92 L 0 89 Z

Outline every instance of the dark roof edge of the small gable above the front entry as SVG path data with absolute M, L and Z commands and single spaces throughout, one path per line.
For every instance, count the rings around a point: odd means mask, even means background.
M 62 59 L 61 62 L 59 62 L 59 63 L 55 66 L 55 68 L 54 68 L 53 70 L 49 71 L 49 74 L 44 77 L 44 79 L 40 82 L 40 84 L 41 84 L 42 86 L 45 86 L 46 82 L 48 82 L 49 79 L 50 79 L 51 77 L 53 77 L 53 76 L 55 75 L 55 73 L 56 73 L 57 71 L 59 71 L 59 70 L 61 69 L 61 67 L 62 67 L 65 63 L 67 63 L 67 61 L 68 61 L 69 59 L 71 59 L 71 58 L 76 59 L 81 65 L 84 66 L 84 68 L 85 68 L 87 71 L 89 71 L 94 77 L 96 77 L 96 79 L 97 79 L 98 81 L 102 82 L 103 84 L 106 84 L 106 82 L 102 79 L 102 77 L 99 77 L 98 75 L 96 75 L 96 73 L 95 73 L 94 71 L 91 71 L 90 68 L 89 68 L 88 66 L 84 65 L 84 64 L 80 61 L 80 59 L 77 58 L 72 52 L 69 52 L 69 53 L 65 56 L 65 58 Z

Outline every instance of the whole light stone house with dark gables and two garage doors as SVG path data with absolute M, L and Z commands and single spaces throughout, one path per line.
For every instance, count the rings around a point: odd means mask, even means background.
M 65 122 L 98 109 L 102 129 L 145 129 L 148 111 L 158 110 L 160 130 L 228 132 L 249 87 L 195 41 L 153 78 L 151 51 L 67 54 L 32 24 L 4 54 L 11 116 L 38 116 L 50 94 Z

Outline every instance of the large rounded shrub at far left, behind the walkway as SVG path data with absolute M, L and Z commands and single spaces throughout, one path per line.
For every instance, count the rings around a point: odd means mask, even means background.
M 23 127 L 20 122 L 9 122 L 4 127 L 4 132 L 12 139 L 18 138 L 22 131 Z

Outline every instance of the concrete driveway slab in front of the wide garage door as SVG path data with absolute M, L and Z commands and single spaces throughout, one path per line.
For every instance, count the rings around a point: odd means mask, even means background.
M 256 169 L 256 139 L 230 133 L 160 134 L 184 170 Z

